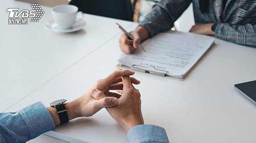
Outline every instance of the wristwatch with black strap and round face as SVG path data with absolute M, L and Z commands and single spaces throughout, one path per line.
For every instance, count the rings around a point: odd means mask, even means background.
M 55 107 L 57 110 L 57 113 L 60 117 L 60 124 L 65 124 L 68 122 L 68 113 L 64 105 L 66 101 L 66 99 L 60 99 L 50 103 L 50 107 Z

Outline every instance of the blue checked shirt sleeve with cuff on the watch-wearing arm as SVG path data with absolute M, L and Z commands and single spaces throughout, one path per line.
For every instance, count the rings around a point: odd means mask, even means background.
M 1 143 L 25 143 L 53 128 L 54 121 L 41 102 L 17 112 L 0 113 Z

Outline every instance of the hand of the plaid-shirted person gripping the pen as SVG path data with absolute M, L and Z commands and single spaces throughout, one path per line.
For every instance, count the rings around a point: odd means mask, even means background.
M 149 33 L 143 26 L 138 26 L 136 30 L 131 32 L 134 40 L 130 40 L 124 33 L 121 34 L 119 39 L 119 46 L 122 52 L 126 54 L 132 54 L 138 48 L 140 41 L 144 41 L 149 37 Z

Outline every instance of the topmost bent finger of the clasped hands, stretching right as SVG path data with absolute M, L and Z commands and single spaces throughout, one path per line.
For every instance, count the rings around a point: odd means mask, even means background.
M 118 69 L 113 71 L 109 76 L 103 79 L 103 81 L 106 85 L 110 85 L 113 81 L 116 80 L 116 78 L 123 77 L 126 75 L 134 75 L 134 73 L 135 73 L 134 71 Z

